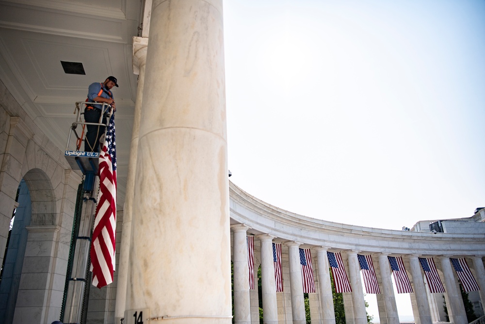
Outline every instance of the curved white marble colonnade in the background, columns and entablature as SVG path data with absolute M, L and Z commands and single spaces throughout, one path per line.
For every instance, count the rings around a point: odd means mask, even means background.
M 269 205 L 229 183 L 231 253 L 234 264 L 234 317 L 236 323 L 255 323 L 259 318 L 256 290 L 249 289 L 245 236 L 254 236 L 254 271 L 261 265 L 264 323 L 306 323 L 298 248 L 310 249 L 316 292 L 310 294 L 312 323 L 335 323 L 327 251 L 341 253 L 352 292 L 344 292 L 347 324 L 366 324 L 366 310 L 359 255 L 371 256 L 380 287 L 377 294 L 380 323 L 396 324 L 399 317 L 392 288 L 388 256 L 402 256 L 413 288 L 410 294 L 417 324 L 439 321 L 442 299 L 429 292 L 419 257 L 434 257 L 444 285 L 450 322 L 468 323 L 458 277 L 450 257 L 465 257 L 485 289 L 483 255 L 485 234 L 397 231 L 312 219 Z M 282 243 L 283 292 L 276 292 L 271 244 Z M 268 270 L 269 269 L 269 270 Z M 269 273 L 269 274 L 268 274 Z M 255 279 L 257 280 L 257 278 Z M 436 303 L 438 302 L 438 303 Z

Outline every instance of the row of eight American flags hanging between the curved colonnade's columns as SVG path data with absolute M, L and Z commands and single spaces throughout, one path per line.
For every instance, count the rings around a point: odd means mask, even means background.
M 248 247 L 248 267 L 249 267 L 249 288 L 254 289 L 254 238 L 247 236 Z M 311 264 L 310 249 L 299 249 L 300 264 L 303 281 L 303 292 L 315 292 L 315 280 L 313 279 L 313 271 Z M 342 256 L 340 253 L 327 252 L 328 263 L 332 269 L 332 276 L 335 284 L 336 292 L 351 292 L 347 273 L 343 266 Z M 374 265 L 372 264 L 372 257 L 366 255 L 357 255 L 360 265 L 360 270 L 364 278 L 364 286 L 367 293 L 380 294 L 377 277 L 375 275 Z M 439 278 L 436 270 L 435 262 L 432 257 L 418 258 L 421 268 L 424 271 L 426 282 L 430 292 L 445 292 L 443 284 Z M 281 244 L 273 243 L 273 261 L 275 265 L 275 284 L 276 292 L 283 291 L 283 275 L 281 271 Z M 396 283 L 398 293 L 412 293 L 411 282 L 407 276 L 404 268 L 403 258 L 401 256 L 388 256 L 389 265 L 392 270 L 392 276 Z M 465 291 L 480 290 L 478 284 L 470 272 L 467 261 L 462 258 L 450 258 L 453 267 L 458 275 L 458 278 Z

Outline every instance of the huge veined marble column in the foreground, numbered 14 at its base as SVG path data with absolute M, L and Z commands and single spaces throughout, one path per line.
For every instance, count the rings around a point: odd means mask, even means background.
M 222 0 L 153 1 L 149 37 L 128 318 L 143 311 L 142 320 L 148 321 L 163 317 L 163 323 L 228 324 L 232 316 Z

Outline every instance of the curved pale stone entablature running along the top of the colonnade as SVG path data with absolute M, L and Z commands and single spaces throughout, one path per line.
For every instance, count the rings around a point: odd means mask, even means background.
M 473 234 L 398 231 L 328 222 L 267 204 L 229 182 L 231 224 L 243 223 L 253 234 L 335 250 L 421 256 L 484 254 L 485 232 Z

